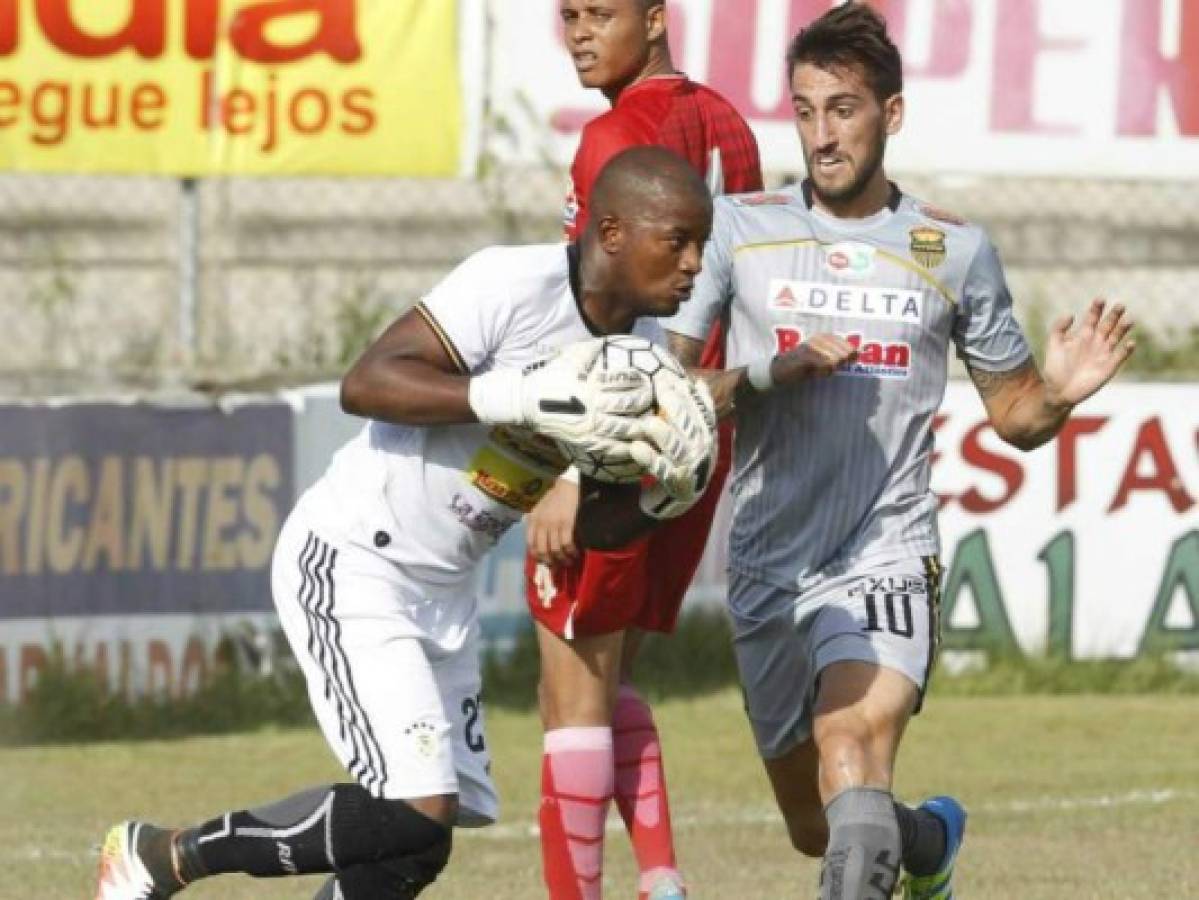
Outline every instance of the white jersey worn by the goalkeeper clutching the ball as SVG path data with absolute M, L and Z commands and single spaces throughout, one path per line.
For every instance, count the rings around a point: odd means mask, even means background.
M 523 368 L 597 337 L 574 260 L 566 244 L 484 249 L 416 309 L 463 374 Z M 662 343 L 655 319 L 633 331 Z M 301 502 L 333 536 L 396 563 L 414 600 L 452 598 L 469 616 L 476 563 L 565 467 L 552 440 L 522 428 L 370 421 Z

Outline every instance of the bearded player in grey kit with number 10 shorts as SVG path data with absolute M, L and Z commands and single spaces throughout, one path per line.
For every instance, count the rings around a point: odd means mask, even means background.
M 717 201 L 692 302 L 667 322 L 737 437 L 729 604 L 759 751 L 820 896 L 952 898 L 965 813 L 891 796 L 936 647 L 932 419 L 953 344 L 1004 440 L 1032 449 L 1132 352 L 1121 307 L 1055 324 L 1038 370 L 986 234 L 903 194 L 882 167 L 903 122 L 885 23 L 845 4 L 788 53 L 809 177 Z

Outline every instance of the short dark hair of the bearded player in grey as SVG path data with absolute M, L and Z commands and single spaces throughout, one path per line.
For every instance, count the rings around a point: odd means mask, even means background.
M 903 91 L 903 60 L 887 23 L 864 2 L 837 6 L 812 22 L 787 48 L 787 77 L 811 64 L 825 71 L 857 66 L 880 101 Z

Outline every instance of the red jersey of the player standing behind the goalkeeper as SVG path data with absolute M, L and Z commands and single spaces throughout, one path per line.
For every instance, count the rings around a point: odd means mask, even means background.
M 566 237 L 577 241 L 588 224 L 588 200 L 604 164 L 632 146 L 674 151 L 703 175 L 715 193 L 761 191 L 758 141 L 724 97 L 682 74 L 656 75 L 626 87 L 616 104 L 583 128 L 571 165 Z M 715 159 L 721 174 L 710 171 Z M 724 342 L 713 328 L 700 358 L 704 368 L 724 367 Z

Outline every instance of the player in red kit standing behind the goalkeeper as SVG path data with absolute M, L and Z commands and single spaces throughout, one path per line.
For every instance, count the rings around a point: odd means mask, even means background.
M 598 171 L 633 145 L 674 151 L 706 177 L 713 193 L 761 189 L 758 145 L 745 120 L 718 93 L 675 70 L 662 0 L 560 0 L 560 12 L 580 83 L 611 103 L 583 129 L 571 168 L 568 240 L 586 226 Z M 703 364 L 723 366 L 718 327 Z M 600 898 L 611 798 L 633 841 L 639 896 L 686 895 L 657 729 L 628 674 L 644 632 L 674 629 L 730 457 L 731 431 L 725 425 L 719 466 L 699 503 L 652 538 L 619 551 L 577 550 L 578 487 L 566 478 L 530 515 L 526 592 L 541 650 L 546 729 L 541 844 L 554 900 Z

